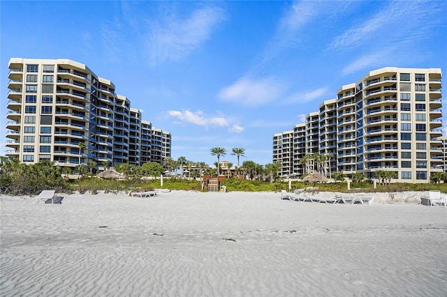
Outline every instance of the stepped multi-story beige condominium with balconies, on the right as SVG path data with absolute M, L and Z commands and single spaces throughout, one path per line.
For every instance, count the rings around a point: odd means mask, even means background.
M 396 182 L 428 183 L 432 173 L 445 170 L 441 77 L 439 68 L 387 67 L 342 86 L 335 99 L 295 125 L 293 139 L 284 140 L 290 131 L 273 136 L 279 174 L 303 174 L 303 153 L 320 153 L 329 156 L 328 172 L 374 178 L 383 170 Z M 284 143 L 293 144 L 292 156 L 284 154 Z

